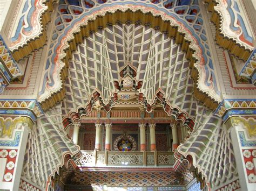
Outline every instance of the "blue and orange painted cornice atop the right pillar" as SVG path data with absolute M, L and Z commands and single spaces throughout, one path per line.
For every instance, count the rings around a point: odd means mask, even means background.
M 224 121 L 235 115 L 256 115 L 256 99 L 223 100 L 214 115 L 223 118 Z

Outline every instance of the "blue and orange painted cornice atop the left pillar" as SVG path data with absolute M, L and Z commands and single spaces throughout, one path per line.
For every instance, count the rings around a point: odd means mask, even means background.
M 44 115 L 44 112 L 36 100 L 0 100 L 1 115 L 23 115 L 28 116 L 33 122 L 37 117 Z

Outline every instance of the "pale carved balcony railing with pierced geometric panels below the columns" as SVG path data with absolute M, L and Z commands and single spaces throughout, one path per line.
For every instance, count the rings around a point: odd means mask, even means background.
M 82 151 L 79 160 L 82 167 L 124 166 L 124 167 L 172 167 L 175 163 L 173 152 L 147 151 Z

